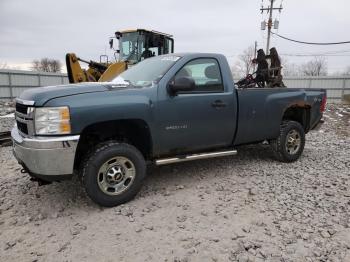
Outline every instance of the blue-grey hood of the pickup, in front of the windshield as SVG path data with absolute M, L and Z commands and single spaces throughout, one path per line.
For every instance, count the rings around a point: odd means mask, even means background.
M 110 86 L 106 83 L 80 83 L 59 86 L 47 86 L 30 88 L 24 91 L 19 98 L 35 102 L 35 106 L 43 106 L 47 101 L 64 96 L 72 96 L 94 92 L 105 92 L 110 90 Z

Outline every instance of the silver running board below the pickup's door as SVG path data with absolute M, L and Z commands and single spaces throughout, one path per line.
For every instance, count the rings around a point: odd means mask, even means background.
M 187 156 L 185 155 L 185 156 L 179 156 L 179 157 L 158 159 L 156 160 L 156 165 L 162 166 L 167 164 L 206 159 L 206 158 L 233 156 L 236 154 L 237 154 L 237 150 L 229 150 L 229 151 L 217 151 L 212 153 L 193 154 L 193 155 L 187 155 Z

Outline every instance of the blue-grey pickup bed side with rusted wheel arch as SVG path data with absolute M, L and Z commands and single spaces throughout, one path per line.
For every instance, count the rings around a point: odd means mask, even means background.
M 237 92 L 239 124 L 235 145 L 276 138 L 284 117 L 303 117 L 306 132 L 322 117 L 320 105 L 325 94 L 322 89 L 253 88 Z M 305 115 L 294 116 L 293 110 Z

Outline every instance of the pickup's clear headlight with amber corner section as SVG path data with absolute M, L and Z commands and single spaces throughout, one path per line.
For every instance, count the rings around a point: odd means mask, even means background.
M 37 135 L 64 135 L 71 132 L 67 106 L 35 108 L 34 120 Z

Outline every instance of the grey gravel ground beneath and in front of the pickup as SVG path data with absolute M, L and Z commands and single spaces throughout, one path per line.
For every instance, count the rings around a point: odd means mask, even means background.
M 350 261 L 350 107 L 325 120 L 295 163 L 254 145 L 153 167 L 109 209 L 75 180 L 38 187 L 0 148 L 0 260 Z

